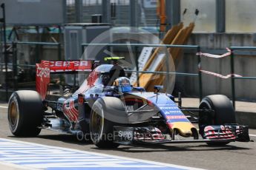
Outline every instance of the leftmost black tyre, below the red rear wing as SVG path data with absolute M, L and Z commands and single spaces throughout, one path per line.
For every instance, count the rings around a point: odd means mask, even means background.
M 13 92 L 8 103 L 8 123 L 13 135 L 19 137 L 39 135 L 42 118 L 42 99 L 36 91 Z

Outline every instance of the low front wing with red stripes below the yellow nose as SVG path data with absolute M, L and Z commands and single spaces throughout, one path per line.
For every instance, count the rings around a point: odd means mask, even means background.
M 212 143 L 212 142 L 249 142 L 248 126 L 227 124 L 221 126 L 206 126 L 203 139 L 175 140 L 163 135 L 160 129 L 152 126 L 131 127 L 114 126 L 114 142 L 120 144 L 137 143 Z M 168 135 L 170 136 L 170 135 Z

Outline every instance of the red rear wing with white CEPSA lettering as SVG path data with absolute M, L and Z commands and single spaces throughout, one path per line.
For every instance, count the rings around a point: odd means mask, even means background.
M 36 91 L 45 99 L 50 74 L 91 72 L 93 61 L 41 61 L 36 64 Z

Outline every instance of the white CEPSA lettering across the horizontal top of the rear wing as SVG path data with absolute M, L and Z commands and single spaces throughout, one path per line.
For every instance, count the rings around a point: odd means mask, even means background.
M 88 67 L 88 61 L 50 61 L 50 67 Z

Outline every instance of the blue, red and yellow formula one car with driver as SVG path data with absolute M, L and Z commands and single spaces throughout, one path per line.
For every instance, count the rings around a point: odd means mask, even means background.
M 119 144 L 205 142 L 226 145 L 249 141 L 248 126 L 238 125 L 224 95 L 203 98 L 198 109 L 184 109 L 181 98 L 131 86 L 118 57 L 97 61 L 42 61 L 36 64 L 36 91 L 13 92 L 8 106 L 10 131 L 36 136 L 41 129 L 89 137 L 99 148 Z M 90 72 L 81 86 L 65 86 L 50 99 L 50 75 Z M 50 110 L 51 109 L 51 110 Z M 50 111 L 49 111 L 50 110 Z M 196 113 L 197 112 L 197 113 Z M 197 120 L 198 127 L 194 126 Z

